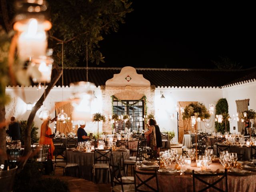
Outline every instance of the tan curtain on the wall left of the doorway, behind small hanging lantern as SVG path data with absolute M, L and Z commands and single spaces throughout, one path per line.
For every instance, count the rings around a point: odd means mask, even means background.
M 55 102 L 55 111 L 56 114 L 58 115 L 61 110 L 64 110 L 64 112 L 70 117 L 70 120 L 68 120 L 66 123 L 59 122 L 57 120 L 56 124 L 56 131 L 59 131 L 61 133 L 64 133 L 67 135 L 67 133 L 72 132 L 72 105 L 71 102 Z

